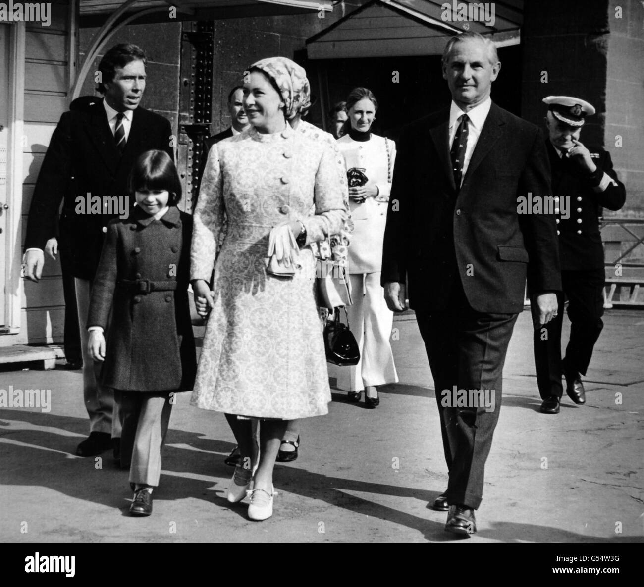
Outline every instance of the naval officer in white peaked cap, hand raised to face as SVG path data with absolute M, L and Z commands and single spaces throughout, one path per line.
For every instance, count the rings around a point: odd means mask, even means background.
M 586 374 L 595 342 L 603 328 L 605 281 L 599 217 L 601 207 L 619 210 L 626 201 L 626 189 L 612 168 L 611 155 L 603 149 L 589 149 L 579 138 L 586 116 L 594 107 L 581 98 L 548 96 L 545 118 L 546 148 L 553 175 L 559 252 L 564 291 L 558 294 L 558 315 L 546 325 L 539 324 L 533 310 L 536 382 L 544 400 L 541 411 L 558 414 L 564 393 L 575 404 L 585 404 L 582 375 Z M 570 340 L 562 361 L 561 335 L 564 295 L 568 299 Z

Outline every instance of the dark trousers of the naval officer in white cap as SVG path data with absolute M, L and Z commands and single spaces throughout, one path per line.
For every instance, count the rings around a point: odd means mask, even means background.
M 561 337 L 564 322 L 564 295 L 568 299 L 570 340 L 565 349 L 571 369 L 586 374 L 592 349 L 603 329 L 603 268 L 587 271 L 562 271 L 563 292 L 557 294 L 557 316 L 547 324 L 539 324 L 539 310 L 533 299 L 533 343 L 535 348 L 536 384 L 545 400 L 564 393 L 562 386 Z

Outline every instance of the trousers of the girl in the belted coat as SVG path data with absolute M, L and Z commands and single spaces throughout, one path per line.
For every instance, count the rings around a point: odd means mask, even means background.
M 172 411 L 171 393 L 115 391 L 123 422 L 121 467 L 129 467 L 130 483 L 159 484 L 161 451 Z

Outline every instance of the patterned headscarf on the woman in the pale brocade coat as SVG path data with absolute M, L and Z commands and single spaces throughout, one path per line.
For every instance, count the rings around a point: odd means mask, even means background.
M 311 86 L 307 72 L 296 62 L 286 57 L 260 59 L 251 65 L 267 75 L 279 88 L 286 104 L 286 118 L 290 120 L 311 105 Z

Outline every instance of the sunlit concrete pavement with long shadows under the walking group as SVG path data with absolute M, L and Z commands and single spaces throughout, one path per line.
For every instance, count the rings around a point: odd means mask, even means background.
M 338 392 L 328 416 L 303 421 L 299 459 L 276 465 L 275 513 L 261 523 L 223 498 L 234 440 L 223 415 L 191 407 L 189 394 L 173 409 L 153 515 L 132 518 L 128 472 L 111 454 L 73 456 L 88 432 L 81 372 L 0 372 L 0 388 L 52 389 L 48 413 L 0 407 L 0 541 L 453 540 L 446 514 L 426 508 L 447 474 L 421 337 L 412 315 L 393 326 L 401 382 L 381 389 L 375 410 Z M 643 341 L 644 312 L 609 311 L 587 404 L 564 395 L 559 415 L 542 415 L 530 315 L 519 316 L 478 534 L 456 542 L 644 541 Z

